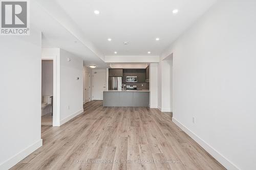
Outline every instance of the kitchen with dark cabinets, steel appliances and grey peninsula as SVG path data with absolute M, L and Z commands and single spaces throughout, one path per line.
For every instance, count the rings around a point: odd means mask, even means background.
M 109 90 L 103 91 L 104 107 L 149 107 L 149 67 L 109 69 Z

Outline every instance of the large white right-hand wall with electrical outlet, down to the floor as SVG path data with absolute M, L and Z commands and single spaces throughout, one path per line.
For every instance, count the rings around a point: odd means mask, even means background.
M 256 167 L 255 16 L 256 1 L 219 1 L 162 56 L 174 121 L 228 169 Z

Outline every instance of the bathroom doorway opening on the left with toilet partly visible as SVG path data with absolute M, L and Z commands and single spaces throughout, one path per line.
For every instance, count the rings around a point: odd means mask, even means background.
M 41 125 L 53 125 L 53 60 L 41 61 Z

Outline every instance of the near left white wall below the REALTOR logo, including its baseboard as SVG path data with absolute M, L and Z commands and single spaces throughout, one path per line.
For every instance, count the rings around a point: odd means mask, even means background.
M 42 145 L 41 32 L 0 38 L 0 169 Z

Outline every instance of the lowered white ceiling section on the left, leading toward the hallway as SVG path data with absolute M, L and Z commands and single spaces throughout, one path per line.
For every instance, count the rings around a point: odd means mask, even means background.
M 33 14 L 32 25 L 42 31 L 42 48 L 62 48 L 83 58 L 86 66 L 97 65 L 97 68 L 106 68 L 107 65 L 96 54 L 50 16 L 39 4 L 31 3 L 31 14 Z

